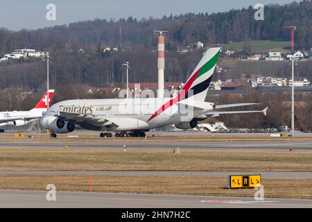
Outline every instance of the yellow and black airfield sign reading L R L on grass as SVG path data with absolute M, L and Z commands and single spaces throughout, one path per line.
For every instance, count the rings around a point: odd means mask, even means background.
M 229 189 L 256 187 L 261 185 L 261 175 L 231 175 L 228 184 Z

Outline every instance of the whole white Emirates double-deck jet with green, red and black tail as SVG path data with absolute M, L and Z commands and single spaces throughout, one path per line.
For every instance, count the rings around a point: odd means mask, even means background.
M 220 48 L 208 49 L 187 83 L 173 98 L 78 99 L 55 103 L 41 119 L 43 128 L 55 133 L 70 133 L 76 127 L 102 131 L 101 137 L 144 137 L 145 132 L 174 124 L 180 129 L 195 128 L 198 121 L 220 114 L 252 111 L 216 111 L 222 108 L 254 105 L 236 103 L 215 105 L 205 102 L 209 83 L 214 74 Z

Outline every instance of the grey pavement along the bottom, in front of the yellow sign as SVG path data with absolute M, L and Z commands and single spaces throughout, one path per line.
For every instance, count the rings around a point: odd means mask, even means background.
M 312 200 L 216 197 L 166 194 L 116 194 L 56 191 L 56 201 L 46 200 L 47 191 L 0 190 L 0 207 L 312 207 Z

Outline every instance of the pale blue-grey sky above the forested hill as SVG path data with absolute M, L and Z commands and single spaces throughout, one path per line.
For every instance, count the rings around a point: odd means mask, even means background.
M 0 27 L 10 30 L 35 29 L 69 24 L 84 20 L 119 19 L 130 15 L 159 18 L 186 12 L 224 12 L 232 8 L 246 8 L 256 3 L 291 3 L 293 0 L 13 0 L 0 1 Z M 46 5 L 56 6 L 56 21 L 46 20 Z

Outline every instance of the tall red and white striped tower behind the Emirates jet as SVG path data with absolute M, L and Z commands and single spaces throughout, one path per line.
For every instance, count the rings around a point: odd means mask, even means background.
M 158 36 L 158 98 L 164 98 L 164 35 Z

